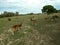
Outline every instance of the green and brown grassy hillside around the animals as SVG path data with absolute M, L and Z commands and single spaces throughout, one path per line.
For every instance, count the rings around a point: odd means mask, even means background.
M 60 45 L 60 14 L 56 15 L 59 16 L 56 22 L 45 20 L 45 14 L 0 18 L 0 45 Z M 30 21 L 32 16 L 37 20 L 35 23 Z M 8 32 L 13 25 L 21 22 L 22 28 L 14 35 Z

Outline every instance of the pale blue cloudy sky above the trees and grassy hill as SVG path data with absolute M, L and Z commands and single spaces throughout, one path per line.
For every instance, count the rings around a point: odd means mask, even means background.
M 39 13 L 45 5 L 60 9 L 60 0 L 0 0 L 0 13 L 3 11 Z

